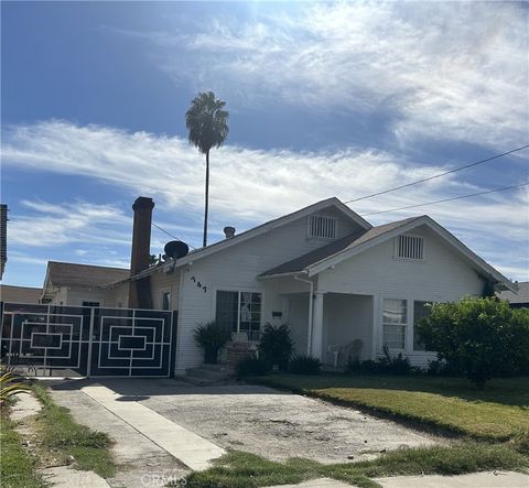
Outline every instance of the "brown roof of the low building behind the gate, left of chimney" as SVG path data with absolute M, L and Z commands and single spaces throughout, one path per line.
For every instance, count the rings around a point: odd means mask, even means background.
M 98 288 L 114 281 L 123 280 L 129 275 L 130 270 L 122 268 L 50 261 L 47 263 L 45 284 L 52 286 Z

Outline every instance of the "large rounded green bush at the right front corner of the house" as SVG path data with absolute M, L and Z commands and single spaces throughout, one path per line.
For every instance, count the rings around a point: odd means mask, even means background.
M 419 333 L 447 368 L 482 388 L 493 376 L 516 375 L 529 365 L 529 311 L 494 297 L 438 303 Z

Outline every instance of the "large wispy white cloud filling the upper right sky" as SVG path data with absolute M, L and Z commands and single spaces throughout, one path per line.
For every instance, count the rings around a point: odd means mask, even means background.
M 515 2 L 339 2 L 131 32 L 159 67 L 231 107 L 391 112 L 402 144 L 527 141 L 528 10 Z M 184 53 L 184 54 L 183 54 Z M 273 105 L 273 104 L 272 104 Z

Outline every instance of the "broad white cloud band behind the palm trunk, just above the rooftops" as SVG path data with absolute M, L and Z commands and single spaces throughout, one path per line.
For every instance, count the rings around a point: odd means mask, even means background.
M 94 177 L 125 187 L 132 195 L 151 196 L 156 203 L 155 219 L 161 216 L 158 223 L 198 245 L 204 163 L 202 155 L 183 139 L 48 121 L 7 128 L 2 158 L 4 167 L 15 165 Z M 212 154 L 212 236 L 226 224 L 244 230 L 322 198 L 338 196 L 346 200 L 442 170 L 411 166 L 391 154 L 370 150 L 298 153 L 226 145 Z M 353 208 L 368 214 L 481 189 L 457 182 L 452 175 L 357 202 Z M 37 200 L 24 200 L 24 205 L 31 215 L 10 221 L 10 242 L 35 247 L 75 243 L 76 248 L 90 242 L 90 249 L 94 245 L 120 246 L 127 250 L 130 247 L 131 218 L 117 206 Z M 428 213 L 493 264 L 510 269 L 516 261 L 518 273 L 512 278 L 518 278 L 529 268 L 528 208 L 528 193 L 521 188 L 369 220 L 381 224 Z M 166 236 L 154 235 L 153 249 L 162 249 L 165 240 Z

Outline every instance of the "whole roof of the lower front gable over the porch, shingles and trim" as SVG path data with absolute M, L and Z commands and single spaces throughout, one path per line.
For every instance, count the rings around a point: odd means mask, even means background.
M 408 232 L 419 226 L 428 226 L 435 234 L 438 234 L 442 239 L 450 243 L 456 251 L 462 254 L 462 257 L 471 262 L 476 271 L 479 271 L 483 275 L 488 279 L 503 284 L 508 290 L 517 292 L 516 285 L 504 276 L 499 271 L 488 264 L 484 259 L 479 258 L 475 252 L 468 249 L 463 242 L 461 242 L 455 236 L 449 232 L 444 227 L 439 225 L 435 220 L 430 218 L 428 215 L 420 217 L 407 218 L 404 220 L 398 220 L 395 223 L 386 224 L 378 227 L 373 227 L 370 230 L 364 232 L 360 237 L 354 235 L 349 236 L 350 241 L 347 243 L 345 241 L 341 242 L 342 249 L 333 249 L 332 246 L 326 246 L 328 254 L 322 258 L 324 253 L 323 249 L 317 251 L 322 252 L 310 252 L 304 254 L 302 258 L 299 258 L 298 262 L 289 261 L 279 267 L 276 267 L 272 270 L 269 270 L 262 273 L 261 278 L 272 278 L 272 275 L 281 274 L 295 274 L 295 273 L 306 273 L 309 276 L 313 276 L 321 271 L 324 271 L 353 256 L 356 256 L 367 249 L 370 249 L 374 246 L 377 246 L 381 242 L 385 242 L 400 234 Z M 335 242 L 337 243 L 337 242 Z M 315 259 L 315 260 L 313 260 Z M 311 262 L 311 260 L 313 260 Z M 295 269 L 298 268 L 298 269 Z

